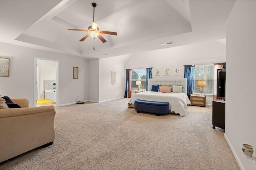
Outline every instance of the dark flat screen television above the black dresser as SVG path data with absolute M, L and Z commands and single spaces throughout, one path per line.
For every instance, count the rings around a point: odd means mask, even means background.
M 217 98 L 225 98 L 225 88 L 226 88 L 226 70 L 217 70 Z

